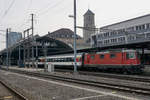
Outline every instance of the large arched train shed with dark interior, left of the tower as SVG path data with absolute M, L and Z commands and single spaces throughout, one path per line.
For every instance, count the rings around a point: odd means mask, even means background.
M 19 50 L 20 60 L 24 61 L 24 59 L 35 59 L 41 56 L 49 56 L 57 52 L 72 51 L 73 49 L 62 41 L 47 36 L 35 36 L 34 38 L 22 39 L 12 47 L 8 48 L 11 63 L 17 64 L 19 60 Z M 6 49 L 0 52 L 0 56 L 4 62 L 6 61 L 6 53 Z

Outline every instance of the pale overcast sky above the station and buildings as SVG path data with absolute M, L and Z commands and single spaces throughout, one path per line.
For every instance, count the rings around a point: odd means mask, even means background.
M 77 0 L 77 25 L 83 26 L 88 8 L 95 13 L 96 27 L 150 14 L 150 0 Z M 73 0 L 0 0 L 0 30 L 23 32 L 35 14 L 35 34 L 45 35 L 60 28 L 73 30 Z M 0 31 L 0 33 L 3 33 Z M 82 30 L 78 33 L 82 36 Z M 0 35 L 0 50 L 5 47 Z

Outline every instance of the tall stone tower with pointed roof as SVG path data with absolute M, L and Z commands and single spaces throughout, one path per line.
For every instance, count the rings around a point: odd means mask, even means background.
M 91 41 L 91 35 L 95 33 L 95 14 L 88 9 L 88 11 L 84 14 L 84 29 L 83 29 L 83 39 L 85 43 L 89 43 Z

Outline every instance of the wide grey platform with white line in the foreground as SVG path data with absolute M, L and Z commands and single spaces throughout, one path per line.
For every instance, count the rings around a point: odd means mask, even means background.
M 31 68 L 11 68 L 37 71 L 37 69 Z M 42 69 L 38 71 L 42 71 Z M 18 89 L 27 92 L 36 100 L 149 100 L 132 93 L 123 94 L 115 90 L 94 88 L 6 71 L 0 71 L 0 76 Z

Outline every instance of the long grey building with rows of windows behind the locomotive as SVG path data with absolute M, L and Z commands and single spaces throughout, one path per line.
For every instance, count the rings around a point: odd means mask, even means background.
M 91 40 L 92 47 L 150 41 L 150 14 L 101 27 Z

